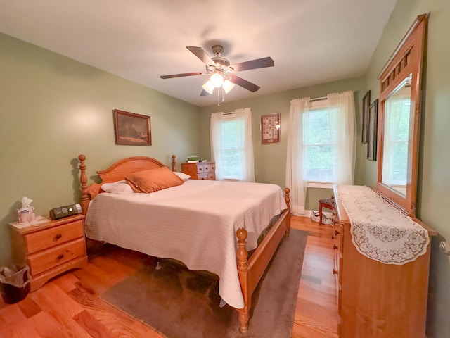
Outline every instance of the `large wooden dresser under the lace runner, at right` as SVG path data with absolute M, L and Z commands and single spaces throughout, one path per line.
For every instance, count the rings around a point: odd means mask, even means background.
M 423 256 L 403 265 L 364 256 L 352 242 L 349 215 L 337 187 L 334 194 L 333 273 L 338 286 L 339 337 L 424 338 L 431 244 Z M 430 237 L 436 234 L 414 220 Z

